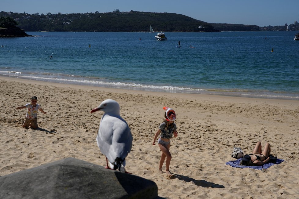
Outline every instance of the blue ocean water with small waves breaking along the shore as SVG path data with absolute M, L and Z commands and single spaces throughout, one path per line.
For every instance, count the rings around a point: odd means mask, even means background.
M 0 38 L 0 75 L 299 100 L 299 41 L 293 40 L 294 31 L 165 32 L 167 41 L 157 41 L 157 33 L 149 32 L 27 33 L 33 37 Z M 178 41 L 182 48 L 176 47 Z

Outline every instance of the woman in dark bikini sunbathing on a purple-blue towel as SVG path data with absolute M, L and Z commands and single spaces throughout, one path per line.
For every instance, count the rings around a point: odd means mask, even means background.
M 246 154 L 242 160 L 240 165 L 244 166 L 262 166 L 269 162 L 271 159 L 269 156 L 271 154 L 270 144 L 267 143 L 263 152 L 262 152 L 262 144 L 260 141 L 255 145 L 252 154 Z

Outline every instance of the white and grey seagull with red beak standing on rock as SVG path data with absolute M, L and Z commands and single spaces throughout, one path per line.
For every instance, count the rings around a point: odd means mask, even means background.
M 104 112 L 97 143 L 102 154 L 106 156 L 107 166 L 105 168 L 118 169 L 120 172 L 128 173 L 124 168 L 125 158 L 131 151 L 133 137 L 127 122 L 120 117 L 120 105 L 113 99 L 106 99 L 90 113 L 98 110 Z

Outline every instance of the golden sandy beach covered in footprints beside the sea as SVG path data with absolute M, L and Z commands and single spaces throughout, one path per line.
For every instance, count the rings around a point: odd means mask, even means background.
M 0 176 L 75 157 L 105 166 L 96 135 L 104 99 L 120 104 L 133 135 L 126 170 L 154 181 L 164 198 L 299 198 L 299 101 L 201 94 L 147 92 L 67 85 L 0 76 Z M 22 127 L 31 96 L 47 114 L 39 129 Z M 161 152 L 152 145 L 163 107 L 176 112 L 170 171 L 157 172 Z M 257 141 L 284 159 L 265 170 L 233 168 L 233 147 L 249 154 Z M 163 167 L 165 172 L 165 165 Z

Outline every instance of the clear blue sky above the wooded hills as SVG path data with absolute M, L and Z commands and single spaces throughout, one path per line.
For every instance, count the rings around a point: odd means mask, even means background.
M 208 23 L 277 26 L 299 22 L 298 0 L 0 0 L 0 11 L 28 14 L 142 11 Z

